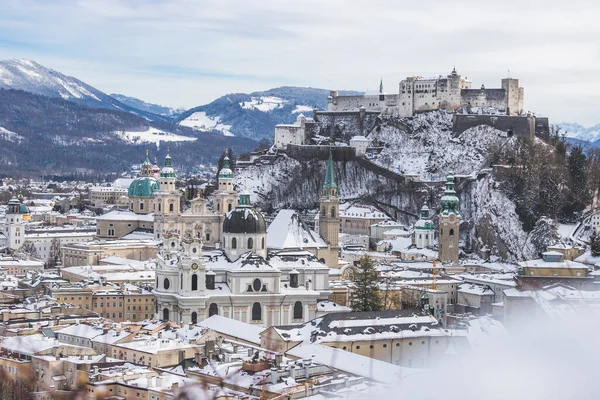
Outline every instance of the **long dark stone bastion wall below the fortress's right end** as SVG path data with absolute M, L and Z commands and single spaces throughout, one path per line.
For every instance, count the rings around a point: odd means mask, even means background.
M 453 117 L 453 131 L 461 134 L 469 128 L 479 125 L 489 125 L 508 136 L 517 135 L 523 138 L 533 139 L 535 135 L 534 117 L 516 117 L 508 115 L 472 115 L 455 114 Z

